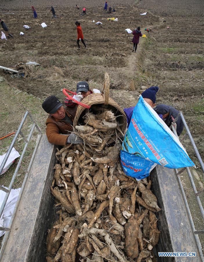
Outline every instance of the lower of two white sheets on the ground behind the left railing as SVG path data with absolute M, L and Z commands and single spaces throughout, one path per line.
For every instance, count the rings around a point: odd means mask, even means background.
M 3 213 L 1 215 L 0 226 L 5 226 L 5 227 L 9 226 L 9 223 L 10 223 L 10 220 L 13 214 L 13 210 L 15 208 L 20 191 L 21 191 L 21 188 L 11 189 L 11 192 L 6 201 L 6 205 L 4 207 Z M 6 192 L 4 192 L 3 190 L 0 190 L 0 207 L 3 203 L 3 199 L 5 195 L 6 195 Z M 3 234 L 5 234 L 5 231 L 0 231 L 0 237 Z

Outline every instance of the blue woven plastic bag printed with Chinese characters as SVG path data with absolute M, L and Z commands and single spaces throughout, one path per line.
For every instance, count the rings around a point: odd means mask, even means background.
M 178 138 L 142 96 L 133 110 L 120 157 L 125 174 L 137 180 L 149 176 L 156 164 L 168 168 L 195 166 Z

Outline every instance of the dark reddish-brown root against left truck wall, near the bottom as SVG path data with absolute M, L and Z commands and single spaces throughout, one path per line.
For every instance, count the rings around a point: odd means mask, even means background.
M 60 246 L 60 239 L 56 242 L 53 242 L 54 238 L 57 235 L 57 229 L 54 228 L 59 223 L 59 221 L 56 221 L 53 226 L 48 230 L 47 239 L 46 239 L 46 246 L 47 246 L 47 252 L 50 255 L 54 255 Z

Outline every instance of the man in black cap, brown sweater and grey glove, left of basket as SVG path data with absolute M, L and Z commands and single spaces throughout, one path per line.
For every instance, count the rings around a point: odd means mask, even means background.
M 49 96 L 42 103 L 42 108 L 49 114 L 46 120 L 48 141 L 55 145 L 81 144 L 83 140 L 73 131 L 75 113 L 65 110 L 56 96 Z

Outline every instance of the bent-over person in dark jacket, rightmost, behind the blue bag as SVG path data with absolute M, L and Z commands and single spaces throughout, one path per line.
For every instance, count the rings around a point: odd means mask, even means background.
M 174 122 L 174 120 L 177 118 L 179 113 L 179 111 L 176 110 L 174 107 L 164 104 L 157 105 L 156 108 L 154 108 L 154 110 L 156 111 L 157 114 L 162 115 L 162 119 L 168 127 L 171 126 L 171 123 Z M 183 121 L 179 115 L 178 119 L 176 119 L 177 135 L 180 136 L 182 131 L 183 131 Z

